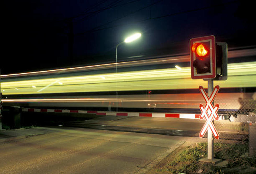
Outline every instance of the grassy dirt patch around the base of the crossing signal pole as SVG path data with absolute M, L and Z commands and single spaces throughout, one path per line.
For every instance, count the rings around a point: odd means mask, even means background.
M 207 157 L 207 143 L 198 143 L 194 146 L 183 147 L 175 150 L 169 157 L 162 161 L 157 168 L 149 173 L 255 173 L 256 159 L 242 158 L 248 152 L 248 142 L 236 144 L 214 143 L 214 158 L 227 161 L 224 167 L 214 166 L 210 163 L 198 162 L 200 158 Z

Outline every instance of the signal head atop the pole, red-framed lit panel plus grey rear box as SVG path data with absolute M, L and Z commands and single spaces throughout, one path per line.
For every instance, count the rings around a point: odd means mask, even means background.
M 227 80 L 227 43 L 214 36 L 190 39 L 190 68 L 192 79 Z

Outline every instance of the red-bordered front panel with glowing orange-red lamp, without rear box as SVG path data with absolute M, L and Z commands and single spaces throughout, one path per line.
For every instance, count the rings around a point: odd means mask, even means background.
M 192 79 L 216 77 L 215 37 L 205 36 L 190 39 L 190 68 Z

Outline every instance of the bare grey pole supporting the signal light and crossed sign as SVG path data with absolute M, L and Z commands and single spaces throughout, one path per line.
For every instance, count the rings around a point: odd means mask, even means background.
M 208 79 L 208 97 L 210 98 L 213 91 L 213 79 Z M 213 102 L 212 102 L 213 104 Z M 207 111 L 206 111 L 207 112 Z M 213 122 L 213 121 L 212 121 Z M 208 126 L 207 131 L 207 137 L 208 137 L 208 159 L 212 160 L 214 156 L 214 139 L 212 136 L 212 131 L 210 126 Z

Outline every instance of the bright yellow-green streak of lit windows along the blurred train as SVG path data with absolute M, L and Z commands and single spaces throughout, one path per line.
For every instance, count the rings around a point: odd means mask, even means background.
M 4 79 L 1 83 L 3 95 L 76 93 L 104 91 L 139 91 L 165 89 L 197 89 L 199 85 L 207 86 L 207 81 L 192 80 L 190 67 L 106 73 L 94 75 L 68 76 L 61 78 L 42 78 L 30 80 Z M 47 76 L 45 76 L 47 77 Z M 24 80 L 27 79 L 27 80 Z M 228 64 L 226 81 L 215 81 L 221 88 L 255 87 L 256 62 Z M 4 102 L 7 100 L 3 100 Z

